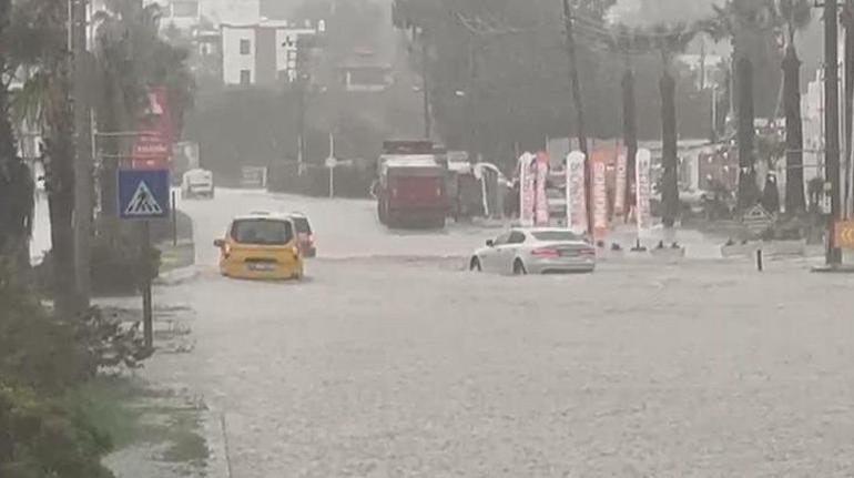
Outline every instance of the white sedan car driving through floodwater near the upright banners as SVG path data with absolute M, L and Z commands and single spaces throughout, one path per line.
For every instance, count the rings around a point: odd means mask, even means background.
M 512 228 L 475 251 L 471 271 L 500 274 L 589 273 L 596 248 L 565 228 Z

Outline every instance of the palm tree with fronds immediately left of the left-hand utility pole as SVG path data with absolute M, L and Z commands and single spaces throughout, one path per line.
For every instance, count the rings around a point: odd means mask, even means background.
M 51 224 L 51 264 L 57 313 L 74 316 L 80 308 L 74 265 L 74 116 L 71 101 L 71 54 L 67 44 L 68 10 L 62 2 L 16 3 L 9 34 L 13 69 L 34 73 L 12 102 L 19 121 L 39 124 L 44 134 L 44 163 Z

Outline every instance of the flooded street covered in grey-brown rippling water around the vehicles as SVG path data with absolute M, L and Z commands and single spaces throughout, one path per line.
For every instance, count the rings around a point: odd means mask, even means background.
M 392 234 L 372 203 L 224 191 L 183 205 L 196 347 L 145 375 L 225 423 L 233 476 L 845 476 L 847 276 L 775 263 L 610 262 L 593 275 L 464 271 L 489 231 Z M 234 214 L 299 210 L 302 284 L 215 271 Z M 403 254 L 403 252 L 409 252 Z M 815 304 L 823 304 L 816 307 Z

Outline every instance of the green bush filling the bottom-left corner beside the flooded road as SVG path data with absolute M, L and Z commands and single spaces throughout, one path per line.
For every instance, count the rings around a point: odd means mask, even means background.
M 149 355 L 134 329 L 93 309 L 51 315 L 0 257 L 0 477 L 106 478 L 109 437 L 63 397 Z

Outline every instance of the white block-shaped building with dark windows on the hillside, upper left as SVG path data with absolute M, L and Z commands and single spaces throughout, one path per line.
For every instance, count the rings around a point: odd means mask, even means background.
M 325 30 L 324 22 L 222 23 L 222 73 L 226 85 L 275 87 L 296 79 L 299 39 Z

